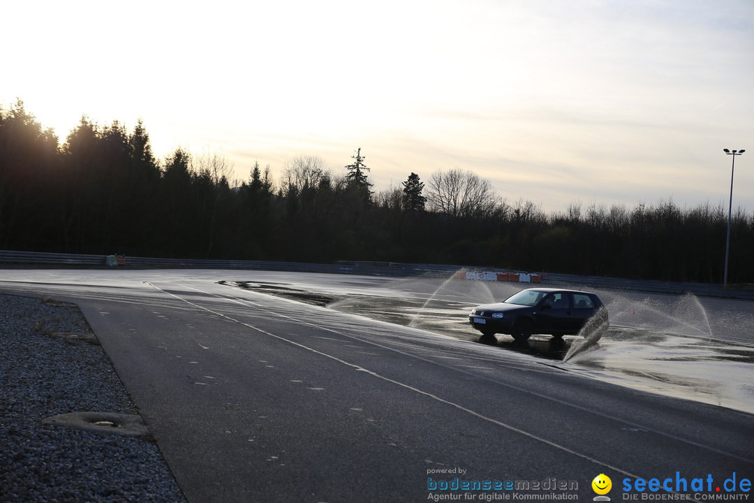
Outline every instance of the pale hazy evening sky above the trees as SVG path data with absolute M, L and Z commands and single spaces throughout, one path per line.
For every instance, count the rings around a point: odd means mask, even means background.
M 143 120 L 239 180 L 293 158 L 379 192 L 472 170 L 509 203 L 754 211 L 752 0 L 6 2 L 0 106 L 63 142 Z

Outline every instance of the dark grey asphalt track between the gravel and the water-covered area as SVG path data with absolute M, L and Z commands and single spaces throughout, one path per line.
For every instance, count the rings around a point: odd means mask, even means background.
M 584 500 L 599 474 L 616 501 L 625 479 L 709 475 L 703 494 L 728 495 L 734 473 L 754 478 L 749 414 L 217 284 L 255 277 L 2 271 L 0 289 L 81 307 L 188 501 Z M 455 477 L 547 489 L 431 490 Z

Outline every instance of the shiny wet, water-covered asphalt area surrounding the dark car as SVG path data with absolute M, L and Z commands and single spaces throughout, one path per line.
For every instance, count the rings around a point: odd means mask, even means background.
M 437 280 L 434 282 L 436 287 Z M 479 284 L 471 287 L 477 290 L 464 290 L 469 287 L 447 281 L 440 285 L 442 294 L 438 294 L 440 288 L 433 292 L 431 285 L 418 283 L 397 283 L 388 294 L 385 290 L 372 294 L 376 290 L 366 285 L 323 293 L 290 284 L 221 283 L 479 342 L 491 351 L 529 354 L 550 360 L 562 370 L 618 385 L 754 413 L 754 335 L 749 335 L 754 304 L 749 314 L 742 314 L 745 309 L 734 316 L 722 311 L 719 317 L 724 319 L 720 321 L 710 317 L 694 296 L 645 299 L 636 293 L 605 292 L 600 295 L 608 305 L 611 327 L 600 334 L 599 341 L 582 336 L 532 336 L 516 341 L 503 335 L 486 340 L 469 326 L 468 313 L 490 298 L 505 298 L 507 290 L 498 293 L 486 285 L 480 290 Z M 417 293 L 421 288 L 425 291 Z M 520 290 L 520 286 L 508 290 Z M 726 319 L 746 326 L 726 324 Z M 729 331 L 725 333 L 729 340 L 712 336 L 713 328 L 719 327 Z

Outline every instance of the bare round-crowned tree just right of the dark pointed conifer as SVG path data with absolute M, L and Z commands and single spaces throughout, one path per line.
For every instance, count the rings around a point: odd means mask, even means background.
M 427 189 L 430 209 L 450 216 L 487 216 L 495 210 L 499 199 L 492 182 L 458 168 L 432 173 Z

